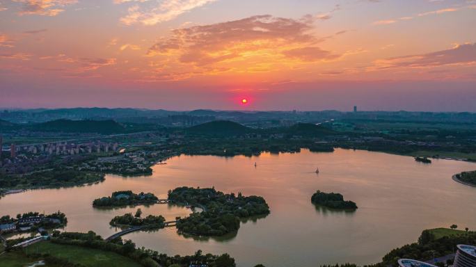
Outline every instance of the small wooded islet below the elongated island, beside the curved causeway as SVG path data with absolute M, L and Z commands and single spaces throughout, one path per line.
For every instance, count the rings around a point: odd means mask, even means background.
M 109 225 L 118 227 L 141 227 L 142 229 L 160 229 L 165 227 L 165 218 L 163 216 L 148 215 L 141 218 L 142 211 L 138 209 L 136 214 L 125 213 L 122 216 L 114 217 Z

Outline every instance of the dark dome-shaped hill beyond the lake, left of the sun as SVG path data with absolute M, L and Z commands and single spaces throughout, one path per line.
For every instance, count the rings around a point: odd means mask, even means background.
M 187 133 L 212 136 L 235 136 L 251 131 L 250 128 L 229 120 L 215 120 L 187 129 Z

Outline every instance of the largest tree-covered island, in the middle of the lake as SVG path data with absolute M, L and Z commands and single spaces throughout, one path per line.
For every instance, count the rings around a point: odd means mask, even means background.
M 269 214 L 269 206 L 263 197 L 225 194 L 214 188 L 175 188 L 168 192 L 168 200 L 203 209 L 177 221 L 179 232 L 198 236 L 223 236 L 236 232 L 241 218 Z

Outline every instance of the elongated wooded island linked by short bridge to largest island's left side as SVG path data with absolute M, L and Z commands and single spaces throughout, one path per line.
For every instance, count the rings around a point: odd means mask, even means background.
M 152 193 L 132 193 L 132 191 L 116 191 L 111 197 L 101 197 L 93 201 L 93 207 L 124 207 L 144 204 L 155 204 L 159 198 Z

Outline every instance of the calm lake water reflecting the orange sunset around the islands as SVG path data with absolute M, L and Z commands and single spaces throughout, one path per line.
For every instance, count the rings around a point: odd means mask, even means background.
M 423 229 L 452 224 L 476 229 L 476 188 L 451 179 L 457 172 L 476 169 L 473 163 L 434 160 L 425 165 L 408 156 L 345 149 L 251 158 L 177 156 L 167 163 L 155 165 L 149 177 L 107 175 L 106 181 L 93 186 L 7 195 L 0 200 L 0 215 L 59 209 L 68 216 L 65 230 L 93 230 L 105 237 L 117 231 L 109 227 L 113 216 L 135 211 L 93 209 L 95 198 L 113 191 L 166 197 L 177 186 L 215 186 L 227 193 L 262 195 L 271 214 L 242 223 L 232 236 L 197 239 L 178 235 L 175 228 L 125 236 L 138 246 L 168 254 L 227 252 L 238 266 L 370 264 L 392 248 L 416 241 Z M 359 209 L 316 209 L 310 196 L 317 189 L 342 193 Z M 161 214 L 168 220 L 190 212 L 166 204 L 141 209 L 144 215 Z

